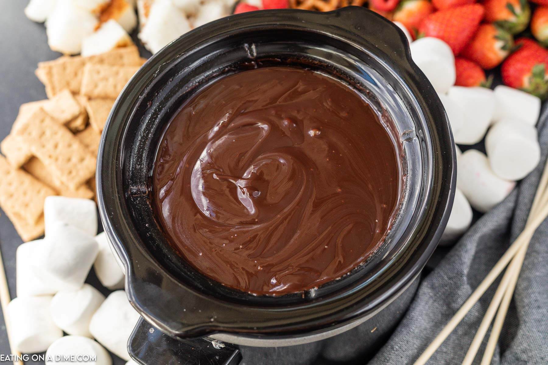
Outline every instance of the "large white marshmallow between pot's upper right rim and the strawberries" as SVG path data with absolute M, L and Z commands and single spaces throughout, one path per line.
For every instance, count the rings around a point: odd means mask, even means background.
M 441 39 L 425 37 L 409 45 L 413 62 L 429 79 L 434 89 L 445 94 L 455 84 L 455 57 Z

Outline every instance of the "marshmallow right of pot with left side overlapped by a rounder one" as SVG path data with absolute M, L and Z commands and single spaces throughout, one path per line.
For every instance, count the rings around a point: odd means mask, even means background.
M 447 96 L 464 113 L 463 126 L 453 134 L 455 143 L 474 144 L 481 141 L 495 111 L 493 90 L 452 86 Z

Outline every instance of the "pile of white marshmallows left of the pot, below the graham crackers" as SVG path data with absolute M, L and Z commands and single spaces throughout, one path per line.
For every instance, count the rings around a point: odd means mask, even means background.
M 90 363 L 110 365 L 105 346 L 130 360 L 127 341 L 139 319 L 138 312 L 125 291 L 117 290 L 105 299 L 84 283 L 93 266 L 102 285 L 109 289 L 124 287 L 124 274 L 107 237 L 97 235 L 95 202 L 48 196 L 44 219 L 45 238 L 22 244 L 16 253 L 17 297 L 7 309 L 14 350 L 23 354 L 47 350 L 46 359 L 56 355 L 96 356 Z M 63 332 L 68 335 L 63 337 Z

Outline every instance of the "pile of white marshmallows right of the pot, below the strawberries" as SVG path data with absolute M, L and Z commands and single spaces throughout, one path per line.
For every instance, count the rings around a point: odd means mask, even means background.
M 452 241 L 470 226 L 471 206 L 489 211 L 538 165 L 535 124 L 540 99 L 504 85 L 494 90 L 454 86 L 455 59 L 443 40 L 420 38 L 410 49 L 413 61 L 438 92 L 455 143 L 470 145 L 485 137 L 487 155 L 476 149 L 460 153 L 456 147 L 455 202 L 443 234 L 444 241 Z

